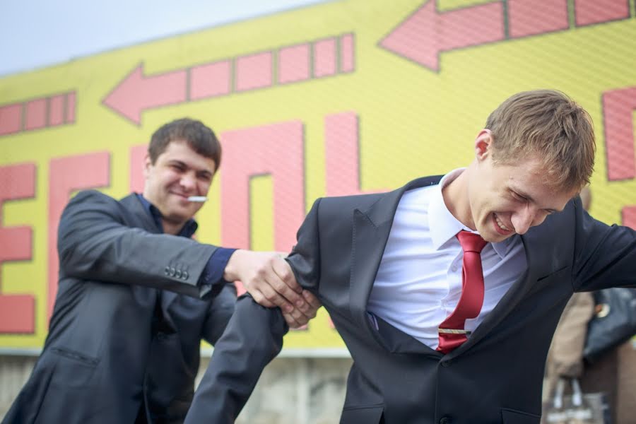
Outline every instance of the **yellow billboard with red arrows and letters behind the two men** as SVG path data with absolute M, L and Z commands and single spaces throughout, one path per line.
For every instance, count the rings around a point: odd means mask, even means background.
M 141 191 L 177 117 L 223 143 L 198 240 L 288 251 L 317 197 L 465 165 L 490 110 L 557 88 L 594 119 L 591 213 L 636 227 L 634 52 L 634 0 L 341 0 L 0 78 L 0 348 L 42 346 L 69 197 Z M 342 347 L 324 311 L 285 339 Z

